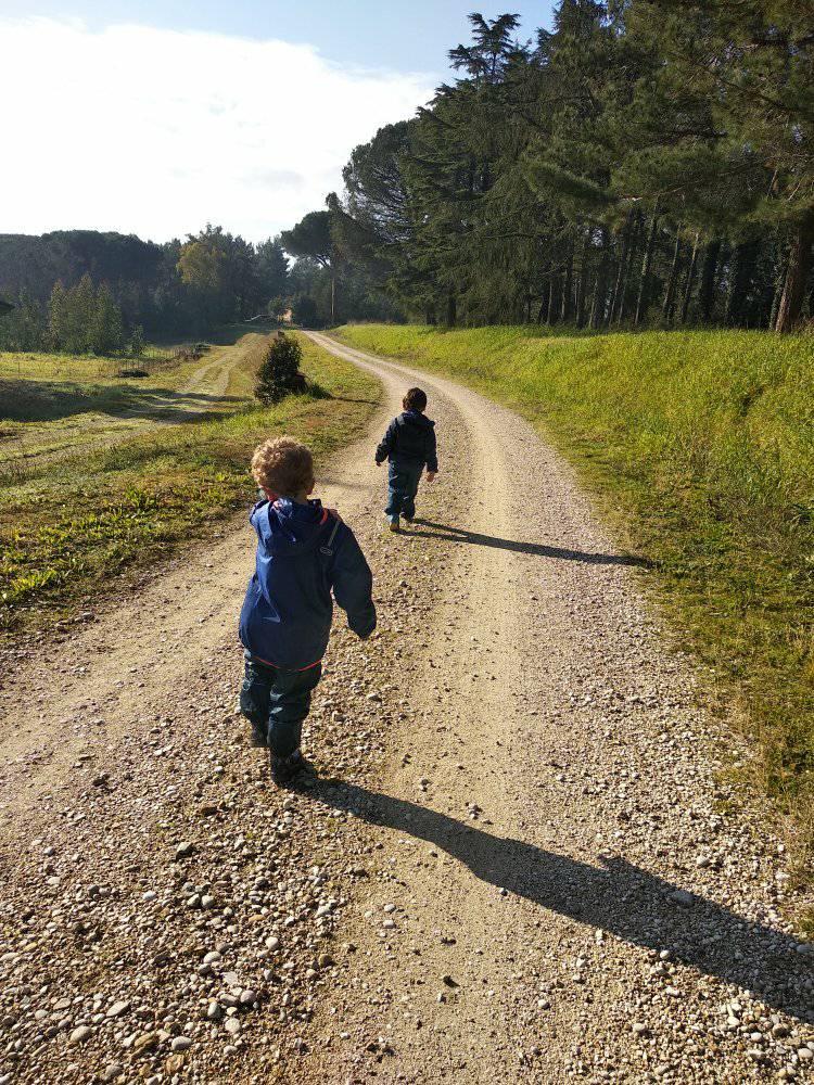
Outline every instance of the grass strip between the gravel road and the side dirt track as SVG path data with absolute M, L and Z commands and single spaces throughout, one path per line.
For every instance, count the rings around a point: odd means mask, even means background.
M 275 433 L 306 441 L 317 463 L 363 432 L 379 385 L 303 339 L 318 395 L 270 410 L 182 422 L 63 458 L 0 488 L 0 640 L 41 630 L 253 500 L 249 461 Z M 245 374 L 244 374 L 245 375 Z M 243 379 L 241 379 L 243 380 Z M 244 382 L 245 383 L 245 382 Z M 327 394 L 327 395 L 326 395 Z

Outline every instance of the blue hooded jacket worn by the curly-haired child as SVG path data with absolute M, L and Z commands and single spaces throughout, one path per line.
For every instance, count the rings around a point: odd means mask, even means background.
M 318 663 L 328 647 L 331 591 L 360 637 L 376 628 L 373 578 L 351 528 L 319 501 L 258 501 L 249 516 L 257 533 L 254 576 L 240 614 L 240 640 L 257 659 L 284 671 Z

